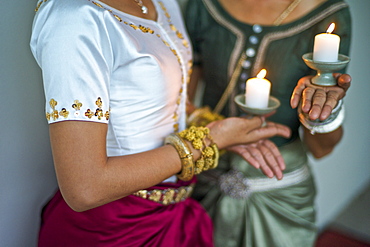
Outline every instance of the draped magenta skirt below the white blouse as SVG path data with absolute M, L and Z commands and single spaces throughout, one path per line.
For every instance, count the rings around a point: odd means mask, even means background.
M 160 184 L 151 189 L 189 183 Z M 39 247 L 213 246 L 212 223 L 195 200 L 163 206 L 127 196 L 85 212 L 73 211 L 58 190 L 42 213 Z

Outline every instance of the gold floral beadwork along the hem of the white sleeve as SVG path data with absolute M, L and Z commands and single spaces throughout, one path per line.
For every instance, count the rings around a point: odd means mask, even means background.
M 51 112 L 46 112 L 46 119 L 50 121 L 53 119 L 53 121 L 56 121 L 59 119 L 59 117 L 63 117 L 64 119 L 68 118 L 70 112 L 66 108 L 62 108 L 60 111 L 56 109 L 56 106 L 58 105 L 58 102 L 55 99 L 51 99 L 49 101 L 49 105 L 52 109 Z M 95 111 L 92 111 L 90 109 L 87 109 L 84 113 L 85 117 L 91 119 L 92 117 L 96 117 L 98 120 L 102 120 L 105 118 L 106 120 L 109 120 L 110 112 L 106 111 L 103 113 L 102 106 L 103 101 L 100 97 L 95 101 L 95 105 L 98 107 L 95 109 Z M 74 115 L 78 117 L 80 115 L 80 110 L 82 107 L 82 103 L 79 100 L 75 100 L 71 107 L 74 109 Z

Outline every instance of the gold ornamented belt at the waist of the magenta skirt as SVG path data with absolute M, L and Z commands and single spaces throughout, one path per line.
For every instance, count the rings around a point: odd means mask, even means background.
M 146 200 L 158 202 L 163 205 L 170 205 L 184 201 L 193 192 L 194 184 L 182 186 L 177 189 L 169 188 L 164 190 L 139 190 L 132 195 Z

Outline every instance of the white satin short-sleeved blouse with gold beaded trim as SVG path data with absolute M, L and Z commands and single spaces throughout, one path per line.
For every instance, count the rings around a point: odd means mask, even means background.
M 31 49 L 48 122 L 108 124 L 108 156 L 157 148 L 185 128 L 190 42 L 176 1 L 153 3 L 157 21 L 95 0 L 42 0 L 36 8 Z

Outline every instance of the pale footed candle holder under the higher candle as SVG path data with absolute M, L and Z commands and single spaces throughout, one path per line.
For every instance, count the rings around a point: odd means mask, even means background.
M 302 56 L 302 59 L 308 67 L 317 71 L 316 76 L 312 78 L 312 83 L 318 86 L 337 85 L 333 73 L 345 68 L 350 61 L 349 57 L 342 54 L 338 55 L 337 62 L 314 61 L 312 57 L 313 53 L 306 53 Z

